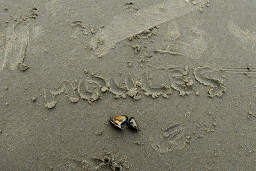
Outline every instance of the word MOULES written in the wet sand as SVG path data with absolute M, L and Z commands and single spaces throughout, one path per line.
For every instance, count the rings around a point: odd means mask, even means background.
M 168 70 L 168 85 L 153 86 L 148 78 L 147 72 L 141 73 L 141 78 L 133 80 L 131 74 L 122 84 L 116 82 L 115 78 L 104 78 L 99 75 L 91 74 L 79 81 L 76 86 L 69 80 L 63 80 L 58 87 L 47 87 L 44 90 L 45 107 L 53 108 L 56 105 L 55 97 L 58 94 L 65 93 L 67 98 L 76 103 L 79 99 L 92 103 L 93 101 L 102 99 L 104 94 L 111 93 L 115 98 L 131 97 L 133 100 L 140 100 L 143 95 L 157 98 L 163 96 L 168 98 L 172 94 L 172 89 L 179 92 L 180 96 L 185 96 L 193 93 L 195 80 L 200 84 L 209 87 L 208 96 L 220 98 L 225 92 L 223 80 L 212 78 L 211 73 L 219 71 L 219 69 L 210 67 L 194 68 L 193 75 L 195 79 L 188 77 L 188 66 L 185 68 L 169 68 Z M 194 81 L 193 81 L 194 80 Z M 194 92 L 198 95 L 197 92 Z

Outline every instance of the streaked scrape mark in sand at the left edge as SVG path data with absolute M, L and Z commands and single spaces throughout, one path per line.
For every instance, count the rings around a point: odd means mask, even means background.
M 0 72 L 4 68 L 15 70 L 19 68 L 20 71 L 25 71 L 28 66 L 24 64 L 26 50 L 29 45 L 29 28 L 28 26 L 20 26 L 16 31 L 15 26 L 8 27 L 6 35 L 1 34 L 1 57 L 0 58 Z M 5 40 L 4 40 L 5 38 Z

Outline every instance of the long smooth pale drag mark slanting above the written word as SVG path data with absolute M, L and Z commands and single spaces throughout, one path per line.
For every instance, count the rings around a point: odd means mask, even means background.
M 164 11 L 161 10 L 163 7 Z M 97 56 L 101 57 L 119 41 L 195 10 L 186 1 L 168 0 L 165 3 L 140 9 L 136 13 L 128 11 L 121 13 L 92 38 L 91 48 Z

